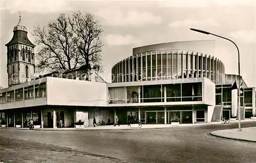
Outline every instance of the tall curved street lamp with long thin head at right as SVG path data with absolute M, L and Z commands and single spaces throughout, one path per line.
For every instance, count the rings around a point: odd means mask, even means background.
M 232 40 L 228 39 L 228 38 L 225 38 L 225 37 L 222 37 L 222 36 L 218 36 L 216 34 L 212 34 L 212 33 L 209 33 L 209 32 L 206 32 L 206 31 L 202 31 L 202 30 L 197 30 L 197 29 L 193 29 L 193 28 L 190 28 L 190 30 L 192 31 L 196 31 L 196 32 L 199 32 L 199 33 L 203 33 L 203 34 L 206 34 L 206 35 L 214 35 L 214 36 L 217 36 L 217 37 L 220 37 L 220 38 L 223 38 L 223 39 L 226 39 L 226 40 L 229 40 L 230 42 L 232 42 L 234 45 L 236 45 L 237 47 L 237 50 L 238 50 L 238 78 L 239 78 L 239 81 L 238 81 L 238 95 L 239 95 L 239 98 L 238 98 L 238 131 L 242 131 L 242 128 L 241 128 L 241 110 L 240 110 L 240 54 L 239 54 L 239 49 L 238 49 L 238 46 L 236 43 L 234 43 Z

